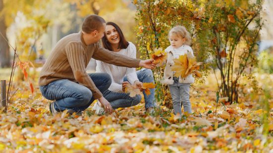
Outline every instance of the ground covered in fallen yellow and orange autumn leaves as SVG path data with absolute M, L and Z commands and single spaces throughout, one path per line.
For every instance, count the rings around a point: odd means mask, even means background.
M 262 89 L 246 84 L 235 104 L 220 98 L 215 115 L 216 82 L 211 75 L 192 88 L 195 113 L 188 117 L 175 116 L 165 106 L 147 115 L 144 103 L 112 115 L 97 116 L 89 107 L 83 116 L 52 116 L 37 84 L 32 95 L 28 82 L 15 81 L 13 90 L 19 90 L 8 112 L 0 113 L 0 152 L 273 152 L 273 75 L 257 79 Z

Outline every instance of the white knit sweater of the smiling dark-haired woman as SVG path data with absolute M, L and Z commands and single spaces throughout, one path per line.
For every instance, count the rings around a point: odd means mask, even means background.
M 133 43 L 129 42 L 129 46 L 127 47 L 127 49 L 122 49 L 115 53 L 123 54 L 131 58 L 136 58 L 136 46 Z M 134 84 L 135 81 L 138 81 L 137 75 L 136 75 L 136 68 L 116 66 L 116 65 L 102 62 L 100 60 L 96 60 L 96 63 L 97 63 L 96 72 L 106 72 L 111 76 L 112 84 L 109 87 L 110 91 L 120 92 L 120 93 L 123 92 L 122 82 L 123 82 L 123 78 L 126 75 L 127 75 L 128 81 L 131 84 Z

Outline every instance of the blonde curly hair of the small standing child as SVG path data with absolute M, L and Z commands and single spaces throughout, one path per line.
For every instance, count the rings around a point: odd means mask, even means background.
M 190 46 L 192 43 L 191 34 L 187 31 L 187 29 L 184 26 L 173 27 L 169 32 L 169 38 L 171 34 L 181 37 L 182 39 L 185 38 L 186 39 L 184 43 L 185 45 Z

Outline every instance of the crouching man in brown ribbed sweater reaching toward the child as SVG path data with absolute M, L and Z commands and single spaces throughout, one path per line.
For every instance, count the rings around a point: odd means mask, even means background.
M 102 93 L 111 85 L 107 73 L 86 73 L 91 57 L 110 64 L 153 69 L 153 59 L 139 60 L 108 51 L 98 41 L 104 36 L 105 20 L 98 15 L 87 16 L 81 31 L 61 39 L 43 66 L 39 78 L 42 95 L 52 100 L 50 111 L 56 114 L 81 112 L 98 100 L 106 112 L 112 113 L 110 103 Z

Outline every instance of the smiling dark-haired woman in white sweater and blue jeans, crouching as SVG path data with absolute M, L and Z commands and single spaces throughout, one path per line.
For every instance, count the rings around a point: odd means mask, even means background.
M 132 58 L 136 58 L 136 46 L 127 42 L 119 26 L 113 22 L 106 23 L 106 30 L 102 38 L 104 48 L 109 51 L 114 51 L 118 54 L 123 54 Z M 128 68 L 116 66 L 97 60 L 96 72 L 106 72 L 111 76 L 112 84 L 109 89 L 103 93 L 103 96 L 108 100 L 113 107 L 130 107 L 138 104 L 141 101 L 141 96 L 130 97 L 124 93 L 126 84 L 132 84 L 140 88 L 142 82 L 153 83 L 153 74 L 150 69 L 142 68 L 136 71 L 136 68 Z M 150 95 L 143 92 L 145 100 L 145 109 L 147 112 L 153 110 L 154 107 L 154 91 L 150 89 Z

